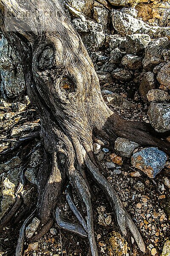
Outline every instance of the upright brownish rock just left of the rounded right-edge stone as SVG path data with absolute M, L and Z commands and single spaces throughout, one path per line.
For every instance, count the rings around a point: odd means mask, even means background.
M 149 90 L 155 89 L 156 83 L 154 74 L 152 72 L 143 72 L 141 74 L 141 81 L 139 84 L 139 92 L 144 101 L 147 101 L 147 93 Z

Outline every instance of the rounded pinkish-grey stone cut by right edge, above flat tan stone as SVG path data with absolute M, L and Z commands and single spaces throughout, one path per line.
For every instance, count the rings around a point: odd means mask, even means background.
M 160 84 L 170 89 L 170 62 L 165 64 L 156 77 Z

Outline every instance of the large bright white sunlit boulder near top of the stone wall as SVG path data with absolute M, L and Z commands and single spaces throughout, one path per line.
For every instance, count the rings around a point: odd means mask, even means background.
M 122 36 L 143 33 L 153 35 L 156 30 L 150 27 L 147 23 L 142 20 L 134 18 L 125 12 L 119 12 L 118 10 L 112 9 L 111 11 L 112 24 L 116 32 Z

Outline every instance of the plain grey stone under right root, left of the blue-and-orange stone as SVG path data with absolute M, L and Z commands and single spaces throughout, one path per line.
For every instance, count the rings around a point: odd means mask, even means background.
M 134 149 L 138 147 L 139 144 L 124 138 L 117 138 L 115 141 L 115 149 L 125 157 L 131 157 Z

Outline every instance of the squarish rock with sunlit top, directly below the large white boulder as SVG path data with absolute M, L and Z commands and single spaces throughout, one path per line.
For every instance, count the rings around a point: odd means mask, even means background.
M 126 53 L 140 54 L 144 51 L 150 41 L 150 36 L 147 34 L 127 35 L 125 45 Z

